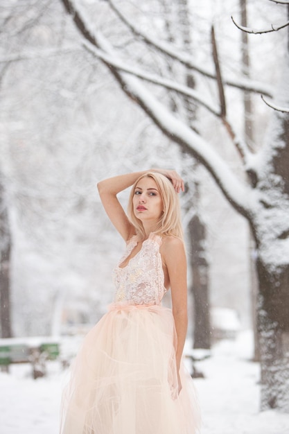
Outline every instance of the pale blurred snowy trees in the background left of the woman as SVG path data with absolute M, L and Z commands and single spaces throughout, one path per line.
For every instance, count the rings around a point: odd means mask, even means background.
M 0 164 L 13 331 L 59 333 L 76 306 L 95 322 L 112 298 L 122 244 L 105 221 L 97 180 L 157 166 L 166 140 L 141 110 L 121 112 L 125 96 L 76 43 L 58 0 L 1 6 Z M 177 164 L 178 155 L 175 146 L 168 160 Z

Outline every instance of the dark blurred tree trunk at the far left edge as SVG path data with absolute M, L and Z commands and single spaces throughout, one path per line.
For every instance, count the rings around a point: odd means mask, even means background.
M 3 187 L 0 184 L 0 302 L 1 302 L 1 337 L 12 336 L 10 318 L 10 232 L 8 213 L 4 200 Z

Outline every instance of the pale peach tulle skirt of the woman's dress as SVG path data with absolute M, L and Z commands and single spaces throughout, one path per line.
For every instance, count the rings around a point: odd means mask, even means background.
M 170 309 L 112 304 L 71 365 L 60 433 L 196 433 L 198 401 L 183 366 L 178 393 L 175 343 Z

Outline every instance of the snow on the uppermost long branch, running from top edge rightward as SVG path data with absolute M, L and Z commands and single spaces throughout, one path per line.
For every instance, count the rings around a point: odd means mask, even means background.
M 128 19 L 128 17 L 125 17 L 125 15 L 123 15 L 123 13 L 121 12 L 121 10 L 119 10 L 113 0 L 107 0 L 107 3 L 110 4 L 112 10 L 114 10 L 116 15 L 123 22 L 123 24 L 125 24 L 125 26 L 127 26 L 134 35 L 146 42 L 146 44 L 154 47 L 161 53 L 168 55 L 170 58 L 177 60 L 177 62 L 183 64 L 186 68 L 192 69 L 193 71 L 200 73 L 202 76 L 216 80 L 216 74 L 207 68 L 200 67 L 199 64 L 193 61 L 191 55 L 187 53 L 182 53 L 177 46 L 173 46 L 172 44 L 168 44 L 164 41 L 159 41 L 151 37 L 150 35 L 141 32 L 139 28 L 137 28 L 137 26 L 134 26 L 134 24 Z M 272 87 L 254 80 L 250 80 L 249 78 L 224 78 L 224 84 L 231 87 L 236 87 L 241 90 L 246 90 L 248 92 L 263 94 L 265 96 L 269 96 L 270 98 L 272 98 L 273 95 Z

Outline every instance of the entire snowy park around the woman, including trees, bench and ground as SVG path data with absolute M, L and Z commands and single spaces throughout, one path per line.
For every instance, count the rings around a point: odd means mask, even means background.
M 60 432 L 114 299 L 98 182 L 173 168 L 200 434 L 289 434 L 289 0 L 2 0 L 0 21 L 0 433 Z

